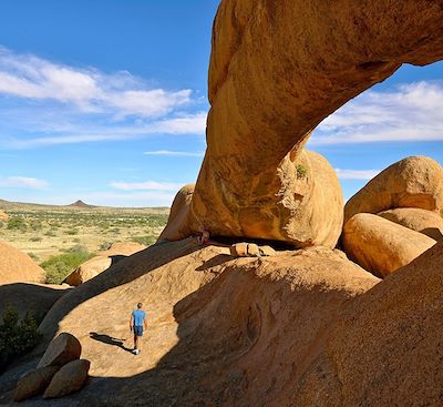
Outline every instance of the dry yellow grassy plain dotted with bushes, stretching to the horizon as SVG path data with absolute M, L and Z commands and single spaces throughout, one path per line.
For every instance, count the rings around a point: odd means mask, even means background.
M 30 254 L 38 263 L 84 246 L 94 253 L 114 242 L 152 244 L 166 224 L 169 210 L 73 207 L 0 201 L 10 216 L 0 222 L 0 240 Z

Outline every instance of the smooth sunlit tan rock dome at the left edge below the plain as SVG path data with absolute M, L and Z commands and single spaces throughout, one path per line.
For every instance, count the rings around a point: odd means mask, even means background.
M 44 269 L 28 254 L 0 242 L 0 285 L 11 283 L 42 283 Z

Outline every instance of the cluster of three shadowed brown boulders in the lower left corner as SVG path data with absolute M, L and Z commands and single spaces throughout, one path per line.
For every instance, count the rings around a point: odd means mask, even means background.
M 82 346 L 68 333 L 51 342 L 34 370 L 24 374 L 17 384 L 14 401 L 43 394 L 56 398 L 80 390 L 86 383 L 91 363 L 80 359 Z

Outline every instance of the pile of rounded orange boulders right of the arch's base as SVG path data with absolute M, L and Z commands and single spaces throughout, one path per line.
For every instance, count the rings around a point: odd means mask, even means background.
M 392 164 L 344 207 L 347 255 L 384 277 L 442 240 L 443 169 L 424 156 Z

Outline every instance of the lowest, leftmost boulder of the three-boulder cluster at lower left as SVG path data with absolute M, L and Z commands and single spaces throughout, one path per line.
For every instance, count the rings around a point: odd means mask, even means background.
M 59 366 L 47 366 L 27 373 L 17 384 L 14 401 L 22 401 L 42 394 L 56 370 Z

